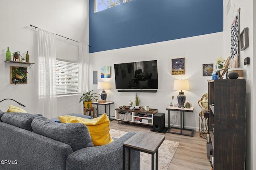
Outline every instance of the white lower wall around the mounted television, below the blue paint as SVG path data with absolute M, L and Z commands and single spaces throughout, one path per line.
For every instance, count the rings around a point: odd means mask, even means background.
M 166 107 L 170 104 L 171 96 L 174 95 L 174 102 L 177 103 L 176 96 L 179 91 L 173 90 L 173 82 L 176 79 L 188 79 L 190 90 L 184 91 L 186 101 L 192 102 L 193 113 L 185 113 L 185 127 L 198 130 L 198 114 L 200 107 L 198 100 L 204 93 L 208 93 L 207 79 L 212 77 L 202 76 L 202 65 L 216 62 L 216 58 L 223 54 L 222 32 L 172 40 L 166 42 L 139 45 L 122 49 L 114 49 L 97 53 L 90 53 L 90 90 L 101 93 L 97 90 L 97 85 L 92 84 L 92 71 L 98 71 L 98 81 L 109 81 L 112 89 L 106 90 L 107 100 L 113 101 L 111 115 L 114 116 L 114 108 L 119 105 L 128 105 L 129 101 L 134 101 L 135 93 L 117 92 L 115 89 L 114 64 L 135 62 L 135 61 L 158 61 L 158 90 L 157 93 L 139 93 L 141 105 L 149 105 L 150 108 L 158 109 L 159 113 L 166 113 L 165 121 L 168 123 Z M 185 75 L 171 74 L 171 59 L 185 57 Z M 100 78 L 101 66 L 111 66 L 111 78 L 102 80 Z M 103 111 L 103 110 L 102 110 Z M 100 112 L 102 112 L 100 111 Z M 172 114 L 176 114 L 173 112 Z M 171 124 L 174 121 L 171 119 Z M 180 113 L 175 125 L 180 125 Z

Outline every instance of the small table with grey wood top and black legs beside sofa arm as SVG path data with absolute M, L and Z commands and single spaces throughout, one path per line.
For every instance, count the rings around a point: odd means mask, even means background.
M 139 131 L 123 144 L 123 169 L 125 169 L 125 148 L 129 151 L 129 170 L 131 169 L 131 149 L 151 154 L 151 168 L 154 170 L 154 155 L 156 154 L 156 170 L 158 170 L 158 148 L 164 142 L 165 136 Z

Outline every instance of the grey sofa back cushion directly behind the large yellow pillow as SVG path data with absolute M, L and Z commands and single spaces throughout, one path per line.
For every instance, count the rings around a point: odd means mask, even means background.
M 45 117 L 36 117 L 32 121 L 34 132 L 69 144 L 73 151 L 92 147 L 92 138 L 88 129 L 81 123 L 57 123 Z

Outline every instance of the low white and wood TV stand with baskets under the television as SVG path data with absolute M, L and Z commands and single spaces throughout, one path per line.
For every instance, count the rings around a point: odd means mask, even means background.
M 153 115 L 157 113 L 157 109 L 150 109 L 146 111 L 145 109 L 115 109 L 115 119 L 119 121 L 129 122 L 129 123 L 138 123 L 143 125 L 150 125 L 153 126 Z M 125 113 L 125 114 L 123 114 Z M 137 114 L 145 114 L 147 117 L 140 117 Z M 138 120 L 138 121 L 136 121 Z M 141 120 L 141 121 L 139 121 Z

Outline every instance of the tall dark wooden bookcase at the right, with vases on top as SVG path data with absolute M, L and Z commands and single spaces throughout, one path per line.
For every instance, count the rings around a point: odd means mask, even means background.
M 246 150 L 246 81 L 208 81 L 208 133 L 214 170 L 244 170 Z

